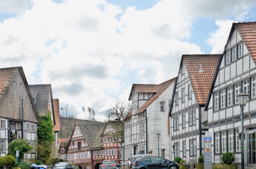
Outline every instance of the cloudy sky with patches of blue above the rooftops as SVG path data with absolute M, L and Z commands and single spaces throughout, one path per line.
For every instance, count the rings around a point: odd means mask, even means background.
M 252 21 L 254 0 L 0 0 L 0 67 L 103 121 L 132 83 L 175 77 L 182 54 L 222 53 L 232 23 Z

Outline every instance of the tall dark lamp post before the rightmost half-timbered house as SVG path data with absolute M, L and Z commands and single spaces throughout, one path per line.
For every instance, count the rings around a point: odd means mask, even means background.
M 238 95 L 238 101 L 240 105 L 240 111 L 241 111 L 241 126 L 242 126 L 242 132 L 241 132 L 241 167 L 244 169 L 244 107 L 246 105 L 247 99 L 249 95 L 246 93 L 240 93 Z

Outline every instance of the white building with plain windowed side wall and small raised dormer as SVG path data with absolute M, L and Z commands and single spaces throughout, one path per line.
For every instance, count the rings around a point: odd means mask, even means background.
M 160 133 L 162 156 L 169 158 L 169 136 L 167 134 L 167 116 L 171 103 L 175 78 L 159 85 L 133 84 L 129 100 L 132 110 L 124 120 L 125 146 L 124 164 L 132 155 L 158 155 L 156 133 Z

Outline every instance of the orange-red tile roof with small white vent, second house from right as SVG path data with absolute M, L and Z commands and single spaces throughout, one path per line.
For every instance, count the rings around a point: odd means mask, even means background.
M 182 57 L 188 71 L 196 101 L 200 105 L 205 105 L 221 54 L 183 55 Z M 199 72 L 200 65 L 202 65 L 203 70 L 201 73 Z

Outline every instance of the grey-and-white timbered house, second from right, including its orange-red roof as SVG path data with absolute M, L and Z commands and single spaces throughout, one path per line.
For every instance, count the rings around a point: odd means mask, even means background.
M 172 159 L 185 161 L 202 155 L 207 131 L 204 111 L 220 55 L 182 55 L 169 112 Z

